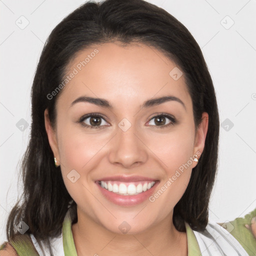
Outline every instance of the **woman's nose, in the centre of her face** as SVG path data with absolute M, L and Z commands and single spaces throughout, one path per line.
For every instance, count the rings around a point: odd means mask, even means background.
M 126 131 L 117 127 L 108 153 L 109 161 L 124 168 L 132 168 L 146 162 L 147 157 L 146 145 L 136 133 L 134 125 Z

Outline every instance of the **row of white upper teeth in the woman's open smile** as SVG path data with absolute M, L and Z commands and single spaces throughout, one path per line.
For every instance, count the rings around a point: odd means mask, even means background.
M 154 185 L 155 181 L 147 182 L 141 181 L 137 185 L 134 183 L 119 183 L 116 184 L 114 181 L 100 181 L 101 187 L 107 189 L 108 191 L 112 191 L 117 194 L 122 195 L 135 195 L 141 192 L 145 192 L 146 190 L 150 189 Z

